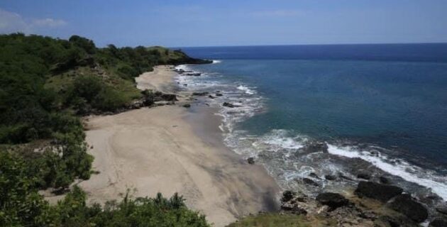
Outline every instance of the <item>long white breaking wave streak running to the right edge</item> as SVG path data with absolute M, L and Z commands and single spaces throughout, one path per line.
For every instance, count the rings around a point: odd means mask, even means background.
M 377 156 L 371 155 L 369 152 L 354 150 L 350 147 L 337 147 L 335 145 L 328 145 L 329 153 L 333 155 L 340 155 L 344 157 L 358 157 L 367 162 L 372 163 L 391 175 L 399 176 L 408 182 L 413 182 L 421 186 L 431 189 L 434 193 L 447 200 L 447 177 L 436 176 L 434 173 L 427 170 L 422 170 L 420 167 L 410 165 L 408 162 L 399 160 L 399 162 L 391 163 L 387 160 L 385 155 L 379 154 Z

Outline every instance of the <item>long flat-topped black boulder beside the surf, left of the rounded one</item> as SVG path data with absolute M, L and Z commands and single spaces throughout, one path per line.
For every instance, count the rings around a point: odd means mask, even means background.
M 393 185 L 362 181 L 358 183 L 355 194 L 386 202 L 392 197 L 402 194 L 403 191 L 402 188 Z

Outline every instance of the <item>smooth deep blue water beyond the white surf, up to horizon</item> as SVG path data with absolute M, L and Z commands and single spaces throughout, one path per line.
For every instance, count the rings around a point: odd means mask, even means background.
M 203 82 L 243 84 L 247 94 L 263 97 L 264 110 L 234 126 L 239 130 L 375 145 L 387 155 L 446 174 L 447 44 L 182 50 L 219 60 L 192 67 L 210 75 Z

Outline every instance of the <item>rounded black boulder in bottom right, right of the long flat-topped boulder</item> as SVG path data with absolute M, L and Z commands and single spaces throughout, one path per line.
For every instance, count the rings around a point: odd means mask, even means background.
M 394 198 L 390 204 L 390 208 L 397 211 L 407 218 L 420 223 L 429 217 L 429 212 L 424 205 L 415 201 L 409 194 L 400 194 Z

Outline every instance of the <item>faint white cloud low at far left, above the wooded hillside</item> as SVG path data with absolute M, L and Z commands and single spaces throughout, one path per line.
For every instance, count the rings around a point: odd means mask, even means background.
M 38 29 L 57 28 L 67 22 L 53 18 L 23 18 L 18 13 L 0 9 L 0 33 L 33 33 Z

